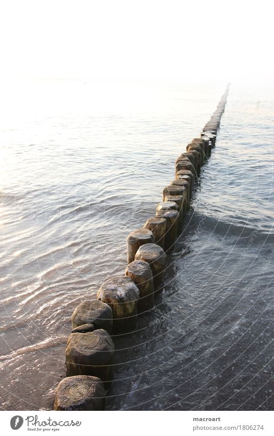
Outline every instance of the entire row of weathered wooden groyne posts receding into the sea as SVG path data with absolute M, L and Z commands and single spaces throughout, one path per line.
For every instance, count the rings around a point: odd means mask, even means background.
M 162 289 L 167 254 L 174 250 L 190 210 L 193 183 L 215 146 L 229 84 L 200 137 L 175 162 L 175 177 L 162 192 L 156 214 L 127 237 L 124 276 L 104 281 L 97 299 L 83 301 L 72 314 L 66 345 L 66 378 L 56 389 L 55 410 L 104 410 L 114 380 L 112 335 L 134 331 L 137 317 L 153 309 Z

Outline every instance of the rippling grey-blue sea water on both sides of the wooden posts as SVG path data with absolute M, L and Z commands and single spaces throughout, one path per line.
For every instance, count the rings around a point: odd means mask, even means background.
M 12 84 L 1 109 L 1 405 L 50 409 L 75 307 L 123 274 L 226 84 Z M 109 410 L 271 408 L 274 98 L 231 86 L 165 289 L 115 338 Z

